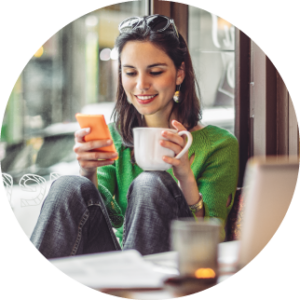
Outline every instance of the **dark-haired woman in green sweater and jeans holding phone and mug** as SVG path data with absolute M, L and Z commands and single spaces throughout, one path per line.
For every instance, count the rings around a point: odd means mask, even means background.
M 118 154 L 93 151 L 112 141 L 84 142 L 89 129 L 75 133 L 81 176 L 62 176 L 52 184 L 30 239 L 44 258 L 169 251 L 171 220 L 193 215 L 219 218 L 225 238 L 238 175 L 236 138 L 199 123 L 190 54 L 173 20 L 131 18 L 119 30 L 117 104 L 109 124 Z M 172 165 L 167 172 L 143 172 L 134 162 L 132 129 L 138 126 L 189 130 L 193 144 L 181 159 L 163 157 Z M 162 136 L 167 141 L 161 145 L 175 154 L 185 145 L 177 134 Z

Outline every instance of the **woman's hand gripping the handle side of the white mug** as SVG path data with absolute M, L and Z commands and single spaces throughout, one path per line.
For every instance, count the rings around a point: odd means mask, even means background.
M 187 130 L 181 123 L 175 120 L 172 121 L 172 125 L 175 129 L 177 129 L 178 132 Z M 180 136 L 176 133 L 166 130 L 163 131 L 162 136 L 168 139 L 168 141 L 161 140 L 161 146 L 173 150 L 175 152 L 175 156 L 182 151 L 186 144 L 185 135 Z M 173 166 L 174 176 L 179 180 L 179 182 L 186 178 L 189 178 L 189 176 L 192 175 L 192 170 L 188 158 L 188 151 L 186 151 L 186 153 L 184 153 L 184 155 L 180 159 L 163 156 L 163 160 Z

